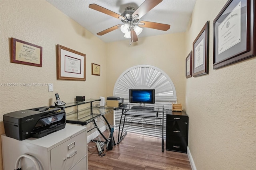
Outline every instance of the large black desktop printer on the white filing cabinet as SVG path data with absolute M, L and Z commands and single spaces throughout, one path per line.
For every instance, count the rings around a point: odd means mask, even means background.
M 55 107 L 10 112 L 3 119 L 6 136 L 17 140 L 41 138 L 66 126 L 65 111 Z

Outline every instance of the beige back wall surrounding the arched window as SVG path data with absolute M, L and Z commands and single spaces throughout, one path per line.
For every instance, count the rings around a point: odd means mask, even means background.
M 146 28 L 145 28 L 146 29 Z M 107 95 L 112 96 L 119 76 L 127 69 L 146 64 L 165 72 L 174 83 L 178 103 L 185 104 L 184 33 L 138 38 L 129 45 L 129 39 L 106 45 Z M 112 119 L 108 117 L 109 119 Z

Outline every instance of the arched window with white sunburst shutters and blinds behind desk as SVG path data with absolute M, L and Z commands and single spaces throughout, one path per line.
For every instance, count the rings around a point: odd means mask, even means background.
M 129 102 L 129 89 L 131 88 L 154 88 L 155 104 L 147 104 L 147 106 L 160 105 L 168 111 L 172 109 L 172 103 L 176 103 L 176 90 L 172 80 L 159 68 L 149 65 L 138 65 L 129 68 L 123 72 L 114 86 L 113 96 L 124 98 L 124 103 Z M 115 129 L 118 130 L 120 123 L 120 115 L 122 112 L 114 112 Z M 166 118 L 166 112 L 164 112 Z M 147 120 L 145 120 L 147 121 Z M 152 121 L 152 120 L 148 120 Z M 166 123 L 164 123 L 165 126 Z M 136 132 L 140 134 L 148 134 L 153 136 L 162 136 L 162 129 L 153 127 L 152 125 L 130 124 L 124 127 L 128 132 Z M 164 128 L 165 131 L 165 128 Z M 165 132 L 164 132 L 165 136 Z

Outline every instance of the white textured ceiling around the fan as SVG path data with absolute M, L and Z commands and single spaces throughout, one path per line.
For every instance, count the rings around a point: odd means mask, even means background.
M 97 33 L 112 26 L 123 24 L 107 14 L 90 9 L 89 4 L 97 4 L 117 14 L 122 14 L 125 8 L 132 6 L 135 10 L 144 2 L 144 0 L 47 0 L 50 4 L 58 8 L 64 14 L 78 22 L 92 34 L 104 42 L 114 42 L 119 40 L 128 40 L 120 29 L 109 32 L 105 35 L 98 36 Z M 163 0 L 152 10 L 146 13 L 140 21 L 158 22 L 169 24 L 171 27 L 167 31 L 143 28 L 142 33 L 138 36 L 156 36 L 185 32 L 188 25 L 192 10 L 196 0 Z

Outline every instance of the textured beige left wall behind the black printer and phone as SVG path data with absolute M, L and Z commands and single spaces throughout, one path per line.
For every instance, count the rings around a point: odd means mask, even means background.
M 3 114 L 54 104 L 55 93 L 64 102 L 106 96 L 106 44 L 74 20 L 46 1 L 20 0 L 0 0 L 0 19 L 0 83 L 54 84 L 54 92 L 44 86 L 0 86 L 1 134 Z M 42 67 L 10 63 L 11 37 L 42 46 Z M 57 44 L 86 54 L 86 81 L 57 80 Z M 92 62 L 101 66 L 100 76 L 91 75 Z

